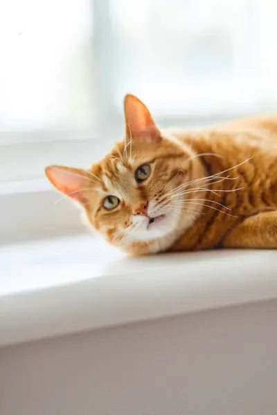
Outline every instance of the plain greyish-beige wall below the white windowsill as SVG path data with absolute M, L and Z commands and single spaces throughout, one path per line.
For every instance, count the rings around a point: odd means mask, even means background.
M 1 415 L 276 415 L 277 302 L 0 349 Z

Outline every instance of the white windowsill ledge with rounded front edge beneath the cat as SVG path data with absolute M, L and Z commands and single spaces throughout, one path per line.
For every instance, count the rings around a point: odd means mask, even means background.
M 131 259 L 80 235 L 2 246 L 0 344 L 277 298 L 277 251 Z

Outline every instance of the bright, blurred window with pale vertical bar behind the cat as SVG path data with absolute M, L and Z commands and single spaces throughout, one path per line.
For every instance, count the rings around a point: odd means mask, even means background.
M 274 0 L 2 1 L 1 140 L 93 137 L 127 92 L 184 122 L 276 109 L 276 18 Z

